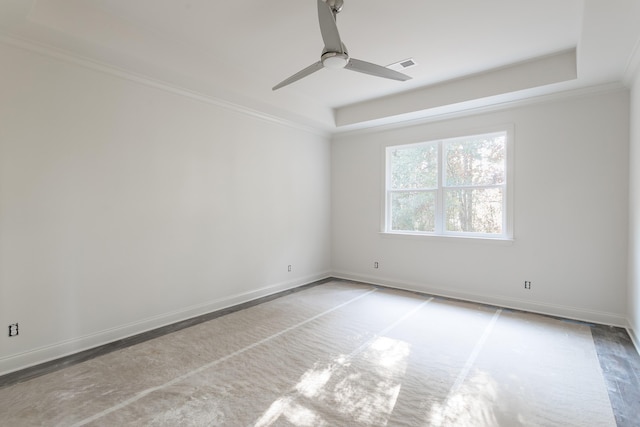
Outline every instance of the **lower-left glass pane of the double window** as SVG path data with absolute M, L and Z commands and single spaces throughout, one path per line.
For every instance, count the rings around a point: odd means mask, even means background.
M 435 192 L 391 193 L 391 229 L 397 231 L 434 231 Z

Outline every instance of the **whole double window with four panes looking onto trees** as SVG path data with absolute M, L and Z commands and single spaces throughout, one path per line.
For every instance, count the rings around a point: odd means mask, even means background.
M 510 238 L 508 131 L 386 148 L 385 232 Z

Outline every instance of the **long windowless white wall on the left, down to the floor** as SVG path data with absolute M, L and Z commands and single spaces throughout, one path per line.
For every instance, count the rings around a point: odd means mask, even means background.
M 327 136 L 0 58 L 0 374 L 329 274 Z

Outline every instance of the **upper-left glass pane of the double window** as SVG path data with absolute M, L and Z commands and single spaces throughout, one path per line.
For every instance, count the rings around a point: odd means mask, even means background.
M 391 150 L 391 188 L 418 189 L 438 186 L 438 145 L 418 145 Z

